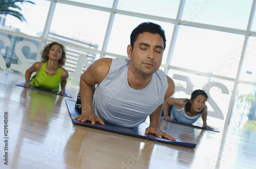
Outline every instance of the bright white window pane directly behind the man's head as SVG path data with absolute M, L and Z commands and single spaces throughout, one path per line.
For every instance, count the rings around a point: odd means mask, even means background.
M 110 35 L 108 48 L 106 49 L 106 51 L 127 56 L 126 49 L 127 45 L 130 44 L 130 35 L 132 31 L 140 23 L 147 21 L 161 25 L 163 30 L 165 31 L 166 47 L 163 53 L 162 60 L 162 64 L 165 64 L 170 45 L 170 39 L 172 38 L 174 29 L 174 24 L 172 23 L 116 14 Z

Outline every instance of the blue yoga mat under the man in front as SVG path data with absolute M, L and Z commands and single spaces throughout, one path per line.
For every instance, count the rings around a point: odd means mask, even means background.
M 139 127 L 133 127 L 133 128 L 121 127 L 121 126 L 117 126 L 117 125 L 113 125 L 113 124 L 109 124 L 109 123 L 105 123 L 105 125 L 101 125 L 99 123 L 91 124 L 91 122 L 89 122 L 89 121 L 80 122 L 80 121 L 74 120 L 74 118 L 76 116 L 79 116 L 81 114 L 79 112 L 79 110 L 75 108 L 75 101 L 66 99 L 66 104 L 67 104 L 71 119 L 73 121 L 73 124 L 76 124 L 76 125 L 96 128 L 99 130 L 110 131 L 110 132 L 124 134 L 124 135 L 130 135 L 130 136 L 134 136 L 134 137 L 138 137 L 138 138 L 153 140 L 155 142 L 176 145 L 176 146 L 182 146 L 182 147 L 187 147 L 187 148 L 191 148 L 191 149 L 194 149 L 197 145 L 194 143 L 182 142 L 181 140 L 179 140 L 177 138 L 176 138 L 176 141 L 174 141 L 174 140 L 168 140 L 165 138 L 158 138 L 155 134 L 145 134 L 145 129 L 149 126 L 145 122 L 142 123 Z

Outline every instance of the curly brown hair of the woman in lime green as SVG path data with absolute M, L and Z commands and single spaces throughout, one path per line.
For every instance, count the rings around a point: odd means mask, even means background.
M 58 62 L 58 64 L 59 64 L 58 66 L 61 67 L 61 66 L 65 65 L 65 62 L 66 62 L 66 49 L 62 44 L 60 44 L 58 42 L 52 42 L 52 43 L 48 44 L 47 46 L 45 46 L 44 50 L 42 50 L 42 52 L 41 52 L 41 61 L 42 62 L 48 61 L 48 59 L 49 59 L 48 54 L 53 45 L 59 45 L 61 47 L 61 59 Z

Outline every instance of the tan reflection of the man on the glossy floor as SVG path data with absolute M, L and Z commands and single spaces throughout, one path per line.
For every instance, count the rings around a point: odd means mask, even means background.
M 65 147 L 66 168 L 148 168 L 154 148 L 152 141 L 141 139 L 138 142 L 131 136 L 90 130 L 95 129 L 77 126 L 69 138 Z M 123 137 L 129 139 L 124 141 Z M 132 147 L 127 146 L 131 144 Z M 123 152 L 127 154 L 124 156 Z M 120 153 L 119 158 L 116 158 L 117 153 Z

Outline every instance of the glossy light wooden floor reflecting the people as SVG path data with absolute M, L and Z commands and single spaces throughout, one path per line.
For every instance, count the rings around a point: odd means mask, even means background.
M 73 125 L 67 97 L 14 86 L 23 75 L 0 70 L 0 168 L 256 168 L 256 133 L 220 133 L 161 121 L 195 149 Z M 77 88 L 67 87 L 72 100 Z M 4 164 L 8 112 L 8 165 Z

